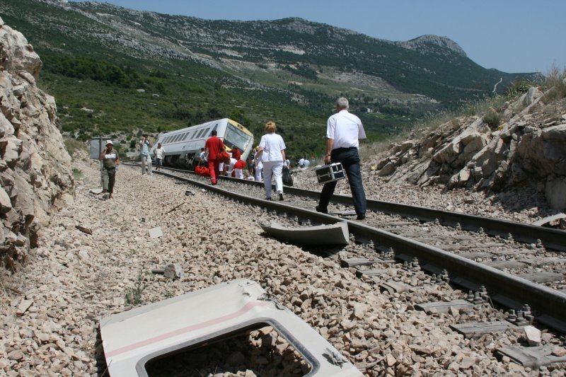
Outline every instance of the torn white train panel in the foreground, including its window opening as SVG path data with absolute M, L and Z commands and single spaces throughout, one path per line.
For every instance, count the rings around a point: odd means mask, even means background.
M 261 300 L 265 293 L 237 279 L 103 318 L 108 374 L 137 376 L 141 365 L 150 376 L 362 376 L 292 311 Z

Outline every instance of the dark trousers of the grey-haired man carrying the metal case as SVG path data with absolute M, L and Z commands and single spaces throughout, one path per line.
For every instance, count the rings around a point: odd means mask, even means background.
M 364 184 L 362 183 L 362 169 L 359 166 L 358 149 L 356 147 L 333 149 L 330 153 L 330 161 L 332 163 L 342 163 L 342 167 L 346 170 L 348 182 L 350 183 L 356 214 L 365 214 L 366 192 L 364 191 Z M 320 200 L 318 201 L 318 207 L 320 207 L 320 209 L 327 209 L 328 203 L 330 203 L 330 197 L 334 194 L 336 185 L 336 181 L 325 183 L 322 192 L 320 192 Z

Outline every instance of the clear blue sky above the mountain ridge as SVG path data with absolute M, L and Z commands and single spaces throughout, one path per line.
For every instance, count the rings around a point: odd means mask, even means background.
M 110 0 L 209 20 L 301 17 L 385 40 L 446 36 L 485 68 L 566 68 L 566 0 Z M 560 36 L 562 35 L 562 36 Z

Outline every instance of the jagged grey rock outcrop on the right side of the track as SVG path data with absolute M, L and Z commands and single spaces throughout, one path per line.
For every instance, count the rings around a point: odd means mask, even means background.
M 566 86 L 566 79 L 563 85 Z M 536 185 L 550 207 L 566 210 L 566 99 L 544 103 L 530 88 L 513 103 L 490 109 L 501 117 L 451 120 L 421 139 L 393 144 L 371 170 L 394 184 L 444 185 L 446 190 L 502 191 Z

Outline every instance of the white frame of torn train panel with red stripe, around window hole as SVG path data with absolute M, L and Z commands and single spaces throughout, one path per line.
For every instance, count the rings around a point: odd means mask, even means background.
M 308 376 L 362 376 L 318 332 L 249 279 L 110 315 L 100 320 L 100 337 L 110 376 L 147 376 L 145 364 L 151 360 L 265 323 L 308 362 Z

